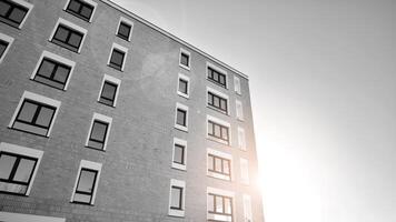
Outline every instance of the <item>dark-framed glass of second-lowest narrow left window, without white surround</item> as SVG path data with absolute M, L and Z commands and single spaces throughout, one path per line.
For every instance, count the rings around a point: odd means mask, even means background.
M 95 120 L 89 135 L 88 147 L 102 150 L 109 123 Z

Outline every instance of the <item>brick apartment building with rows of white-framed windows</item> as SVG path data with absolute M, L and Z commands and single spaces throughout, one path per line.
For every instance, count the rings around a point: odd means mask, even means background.
M 264 221 L 248 78 L 109 0 L 0 0 L 0 221 Z

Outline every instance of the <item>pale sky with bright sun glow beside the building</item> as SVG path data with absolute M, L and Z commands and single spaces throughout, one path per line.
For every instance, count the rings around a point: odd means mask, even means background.
M 396 221 L 396 0 L 113 0 L 249 75 L 266 222 Z

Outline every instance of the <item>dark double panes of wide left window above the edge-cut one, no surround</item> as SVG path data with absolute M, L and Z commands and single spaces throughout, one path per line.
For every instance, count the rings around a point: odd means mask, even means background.
M 48 104 L 24 100 L 12 128 L 39 135 L 47 135 L 56 109 Z

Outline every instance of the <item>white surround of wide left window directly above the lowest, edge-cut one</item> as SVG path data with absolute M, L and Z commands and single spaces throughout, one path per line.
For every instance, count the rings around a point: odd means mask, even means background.
M 22 103 L 23 103 L 23 101 L 24 101 L 26 99 L 33 100 L 33 101 L 37 101 L 37 102 L 44 103 L 44 104 L 48 104 L 48 105 L 51 105 L 51 107 L 57 108 L 56 111 L 55 111 L 55 113 L 53 113 L 50 128 L 48 129 L 48 132 L 47 132 L 47 135 L 46 135 L 47 138 L 49 138 L 50 134 L 51 134 L 51 131 L 52 131 L 53 123 L 55 123 L 55 121 L 56 121 L 56 119 L 57 119 L 57 115 L 58 115 L 58 112 L 59 112 L 61 102 L 58 101 L 58 100 L 53 100 L 53 99 L 43 97 L 43 95 L 41 95 L 41 94 L 36 94 L 36 93 L 29 92 L 29 91 L 24 91 L 24 92 L 23 92 L 21 99 L 19 100 L 19 103 L 18 103 L 18 105 L 17 105 L 17 109 L 16 109 L 16 111 L 14 111 L 13 114 L 12 114 L 11 121 L 10 121 L 10 123 L 8 124 L 8 127 L 9 127 L 10 129 L 12 129 L 12 124 L 13 124 L 13 122 L 16 121 L 17 115 L 18 115 L 18 113 L 19 113 L 19 110 L 21 109 Z

